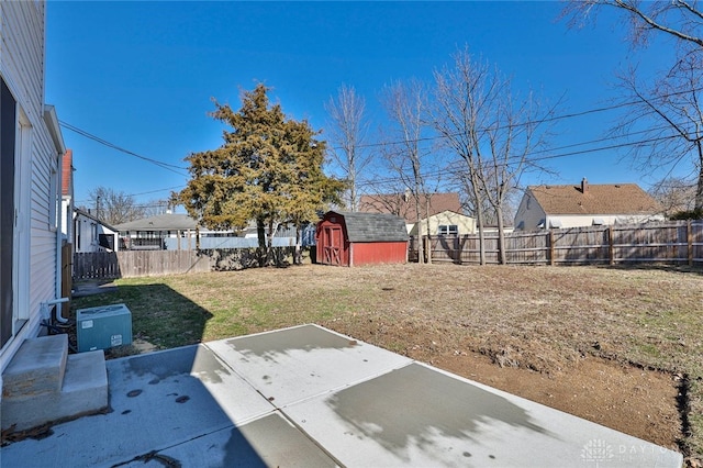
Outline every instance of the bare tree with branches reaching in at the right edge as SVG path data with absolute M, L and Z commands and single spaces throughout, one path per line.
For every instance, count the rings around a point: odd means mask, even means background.
M 644 142 L 634 146 L 632 156 L 643 169 L 676 167 L 692 161 L 698 170 L 695 209 L 703 210 L 703 9 L 698 1 L 572 0 L 562 11 L 571 26 L 594 20 L 605 8 L 615 9 L 628 22 L 629 40 L 647 45 L 655 36 L 676 40 L 670 69 L 649 83 L 638 80 L 635 68 L 620 77 L 626 99 L 637 102 L 628 109 L 615 133 L 626 134 L 645 122 Z

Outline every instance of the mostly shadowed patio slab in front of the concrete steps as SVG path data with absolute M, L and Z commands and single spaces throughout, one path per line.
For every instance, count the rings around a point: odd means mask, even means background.
M 0 465 L 114 466 L 275 410 L 204 346 L 109 360 L 107 366 L 108 414 L 58 424 L 49 437 L 3 447 Z

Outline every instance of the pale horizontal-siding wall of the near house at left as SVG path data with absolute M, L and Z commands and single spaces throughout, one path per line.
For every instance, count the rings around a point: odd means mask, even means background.
M 60 168 L 45 121 L 45 2 L 0 2 L 0 75 L 18 103 L 13 303 L 14 336 L 0 350 L 3 370 L 22 341 L 40 330 L 40 305 L 55 299 Z M 63 142 L 62 142 L 63 144 Z

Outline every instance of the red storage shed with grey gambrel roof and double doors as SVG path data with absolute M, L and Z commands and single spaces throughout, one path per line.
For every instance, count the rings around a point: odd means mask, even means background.
M 405 221 L 386 213 L 327 212 L 317 223 L 317 263 L 337 266 L 404 264 Z

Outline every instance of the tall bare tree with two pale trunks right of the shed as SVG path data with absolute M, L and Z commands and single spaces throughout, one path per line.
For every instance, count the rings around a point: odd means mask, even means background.
M 511 80 L 467 48 L 454 64 L 435 71 L 434 125 L 465 166 L 465 185 L 477 207 L 480 263 L 486 264 L 482 207 L 490 204 L 499 232 L 500 263 L 505 264 L 504 210 L 527 169 L 542 169 L 532 153 L 545 145 L 546 112 L 533 99 L 513 97 Z

